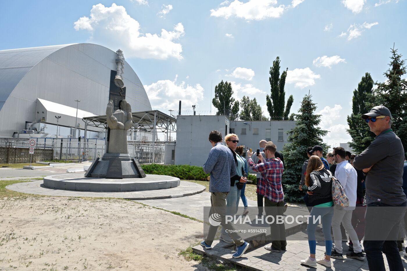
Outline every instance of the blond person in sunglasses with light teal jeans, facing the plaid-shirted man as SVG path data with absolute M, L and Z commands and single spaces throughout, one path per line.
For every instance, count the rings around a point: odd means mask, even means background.
M 236 153 L 237 144 L 239 143 L 239 138 L 236 134 L 230 133 L 225 136 L 225 144 L 229 147 L 230 151 L 233 153 L 234 162 L 236 164 L 236 175 L 230 178 L 230 191 L 228 196 L 226 196 L 226 212 L 228 215 L 234 215 L 237 213 L 237 209 L 240 201 L 241 189 L 243 183 L 240 182 L 241 178 L 247 178 L 244 166 L 245 163 L 238 153 Z M 232 238 L 226 233 L 226 230 L 222 227 L 222 234 L 219 240 L 226 243 L 234 243 Z

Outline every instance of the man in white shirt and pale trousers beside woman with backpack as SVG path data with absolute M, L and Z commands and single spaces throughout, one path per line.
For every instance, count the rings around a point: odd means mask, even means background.
M 335 170 L 335 177 L 341 183 L 344 188 L 344 192 L 349 199 L 349 207 L 339 210 L 334 208 L 333 218 L 332 218 L 332 231 L 335 243 L 335 249 L 332 251 L 332 258 L 343 259 L 342 256 L 342 234 L 340 225 L 344 225 L 346 232 L 348 232 L 350 240 L 353 243 L 353 252 L 346 254 L 348 258 L 355 258 L 358 260 L 364 260 L 365 255 L 362 253 L 362 247 L 360 245 L 357 234 L 352 227 L 352 212 L 356 206 L 356 190 L 357 190 L 357 172 L 348 160 L 346 160 L 346 152 L 342 147 L 337 147 L 332 153 L 335 162 L 337 162 L 337 167 Z

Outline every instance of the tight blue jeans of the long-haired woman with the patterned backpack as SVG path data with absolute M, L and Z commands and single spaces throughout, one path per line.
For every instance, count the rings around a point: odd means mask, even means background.
M 333 207 L 313 207 L 310 213 L 308 226 L 306 231 L 308 234 L 309 253 L 315 254 L 317 248 L 317 242 L 315 240 L 315 230 L 317 229 L 319 220 L 318 216 L 321 216 L 322 230 L 325 236 L 325 253 L 331 255 L 332 252 L 332 236 L 330 234 L 330 228 L 333 217 Z M 315 218 L 315 222 L 314 222 Z

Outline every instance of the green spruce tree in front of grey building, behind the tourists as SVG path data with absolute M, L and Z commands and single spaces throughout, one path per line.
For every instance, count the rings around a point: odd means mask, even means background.
M 302 201 L 304 197 L 304 191 L 298 190 L 298 186 L 301 180 L 302 165 L 308 159 L 306 149 L 310 146 L 321 145 L 325 152 L 328 150 L 328 145 L 322 143 L 322 137 L 326 136 L 328 131 L 319 128 L 321 115 L 314 114 L 317 106 L 311 97 L 310 94 L 304 96 L 298 110 L 299 114 L 295 114 L 296 126 L 287 132 L 288 143 L 284 144 L 282 149 L 285 164 L 282 185 L 286 200 L 291 202 Z

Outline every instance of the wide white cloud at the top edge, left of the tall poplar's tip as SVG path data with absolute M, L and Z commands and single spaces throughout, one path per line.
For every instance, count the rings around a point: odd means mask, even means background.
M 211 9 L 210 15 L 214 17 L 231 16 L 244 18 L 246 20 L 264 20 L 267 18 L 278 18 L 284 12 L 284 5 L 274 6 L 277 0 L 249 0 L 246 3 L 234 0 L 229 6 Z

